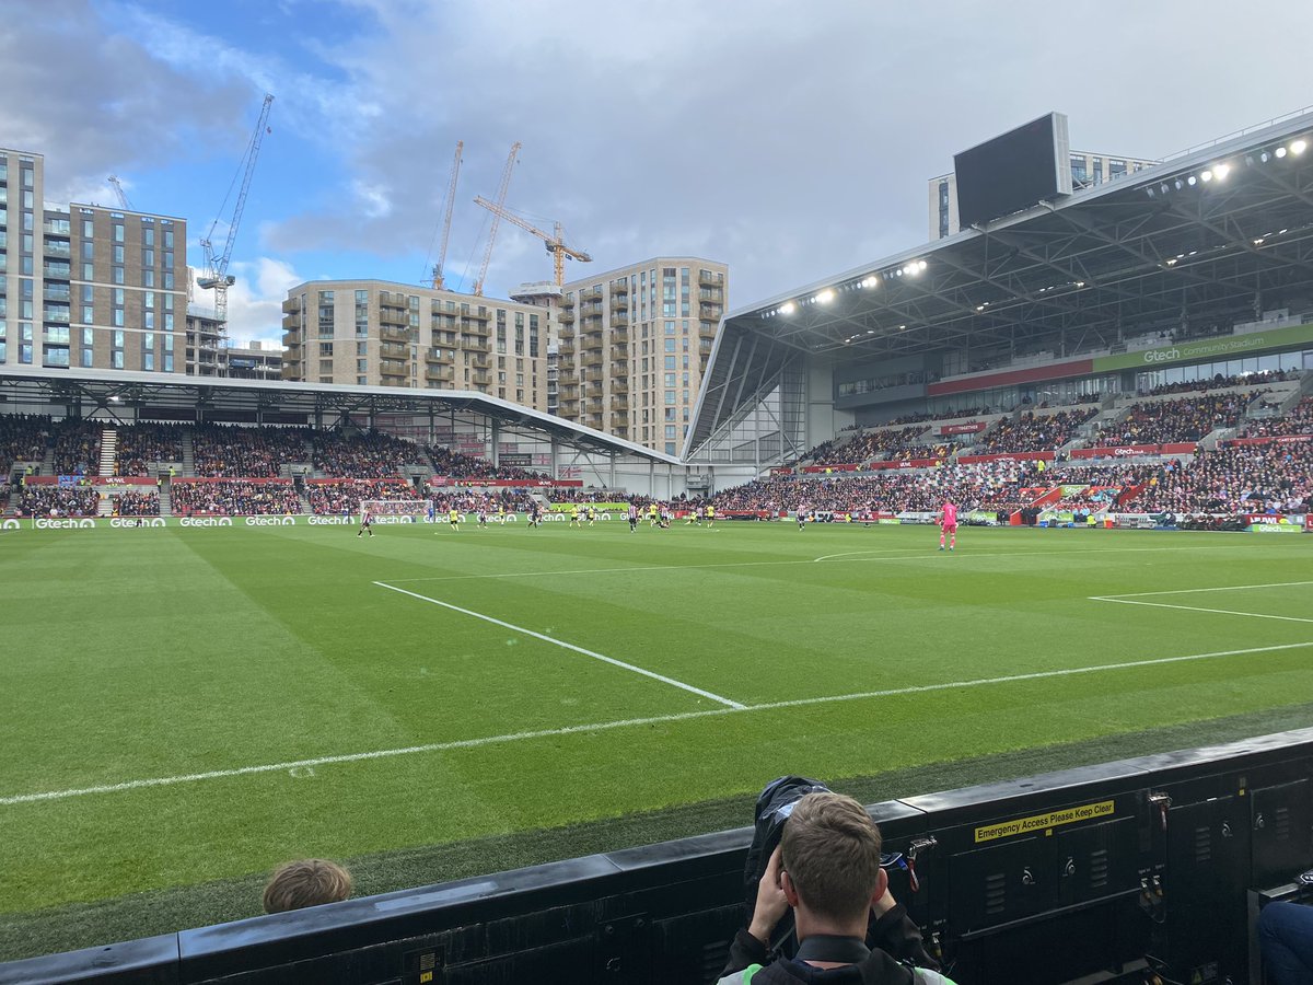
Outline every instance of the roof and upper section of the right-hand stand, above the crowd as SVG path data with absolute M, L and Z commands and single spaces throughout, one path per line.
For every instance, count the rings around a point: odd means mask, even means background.
M 899 415 L 1313 369 L 1313 113 L 730 313 L 685 461 Z

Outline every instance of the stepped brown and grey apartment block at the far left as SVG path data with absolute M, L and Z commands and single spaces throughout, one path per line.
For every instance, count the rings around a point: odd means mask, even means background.
M 0 148 L 0 364 L 181 369 L 186 222 L 43 196 L 45 158 Z

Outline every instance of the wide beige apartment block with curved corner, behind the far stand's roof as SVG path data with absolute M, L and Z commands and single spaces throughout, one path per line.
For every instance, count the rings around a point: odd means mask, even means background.
M 309 281 L 282 303 L 282 378 L 474 390 L 546 411 L 551 313 L 376 280 Z

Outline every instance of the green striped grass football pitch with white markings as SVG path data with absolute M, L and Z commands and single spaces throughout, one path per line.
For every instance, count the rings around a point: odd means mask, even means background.
M 390 889 L 453 875 L 389 868 L 425 846 L 748 823 L 785 772 L 940 789 L 1313 701 L 1309 537 L 303 523 L 0 535 L 0 957 L 251 915 L 289 858 Z

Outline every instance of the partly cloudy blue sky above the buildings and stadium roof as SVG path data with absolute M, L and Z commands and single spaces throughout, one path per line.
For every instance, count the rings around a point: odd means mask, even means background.
M 276 96 L 231 271 L 231 332 L 280 339 L 295 282 L 419 282 L 457 139 L 449 282 L 507 204 L 603 272 L 730 264 L 730 303 L 927 238 L 926 179 L 1050 109 L 1073 147 L 1155 158 L 1313 102 L 1313 5 L 1162 0 L 0 0 L 0 144 L 46 197 L 185 217 L 190 263 Z M 1062 9 L 1062 13 L 1056 11 Z M 546 280 L 503 223 L 487 293 Z

